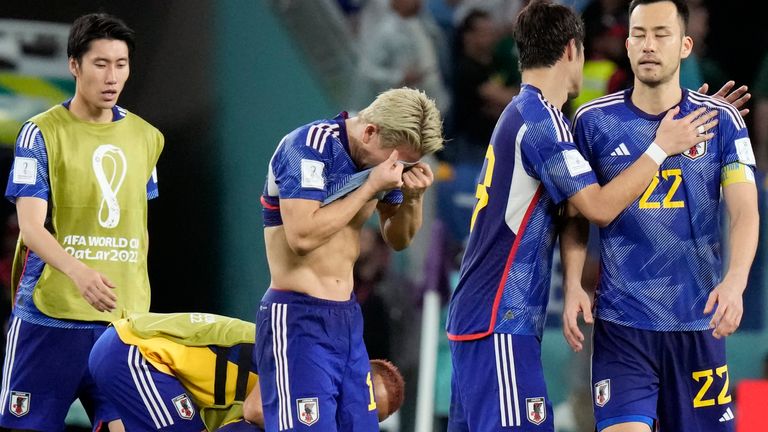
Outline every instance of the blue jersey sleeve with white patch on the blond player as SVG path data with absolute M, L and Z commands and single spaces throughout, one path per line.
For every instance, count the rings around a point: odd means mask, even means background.
M 311 133 L 292 135 L 283 141 L 272 159 L 272 173 L 280 199 L 323 201 L 328 194 L 326 177 L 331 161 L 322 151 L 330 147 L 326 141 L 333 138 L 327 136 L 318 141 Z

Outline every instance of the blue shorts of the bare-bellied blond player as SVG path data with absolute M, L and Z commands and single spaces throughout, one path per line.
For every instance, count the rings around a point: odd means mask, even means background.
M 363 317 L 354 297 L 267 290 L 253 359 L 268 431 L 378 431 Z

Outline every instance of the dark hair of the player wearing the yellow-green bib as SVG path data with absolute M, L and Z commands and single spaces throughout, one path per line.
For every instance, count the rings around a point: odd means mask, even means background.
M 96 39 L 121 40 L 128 45 L 128 56 L 131 56 L 135 46 L 133 37 L 133 30 L 119 18 L 105 13 L 83 15 L 72 23 L 67 56 L 80 62 L 91 48 L 91 42 Z

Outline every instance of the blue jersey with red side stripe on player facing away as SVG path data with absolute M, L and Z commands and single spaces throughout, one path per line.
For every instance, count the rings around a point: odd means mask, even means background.
M 480 173 L 448 310 L 451 340 L 541 336 L 560 203 L 596 182 L 563 113 L 524 85 L 502 113 Z

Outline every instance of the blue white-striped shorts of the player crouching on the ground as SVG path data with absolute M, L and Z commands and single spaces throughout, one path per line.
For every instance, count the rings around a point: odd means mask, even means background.
M 197 406 L 176 377 L 157 370 L 137 347 L 123 343 L 113 327 L 93 346 L 89 366 L 125 430 L 205 430 Z

